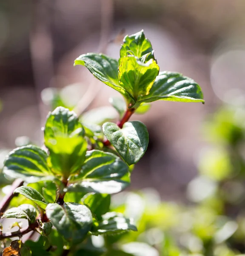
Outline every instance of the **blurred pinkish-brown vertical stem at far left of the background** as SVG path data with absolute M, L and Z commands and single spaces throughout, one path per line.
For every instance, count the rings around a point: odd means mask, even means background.
M 49 86 L 54 76 L 53 41 L 50 31 L 51 8 L 49 1 L 34 1 L 33 27 L 29 35 L 31 64 L 34 85 L 40 109 L 41 125 L 46 119 L 46 111 L 41 100 L 41 92 Z

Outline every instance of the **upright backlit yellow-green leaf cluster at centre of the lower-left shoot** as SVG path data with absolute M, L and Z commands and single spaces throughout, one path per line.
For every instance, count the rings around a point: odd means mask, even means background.
M 44 139 L 53 172 L 69 177 L 80 170 L 87 150 L 83 134 L 83 125 L 73 111 L 58 107 L 49 113 Z

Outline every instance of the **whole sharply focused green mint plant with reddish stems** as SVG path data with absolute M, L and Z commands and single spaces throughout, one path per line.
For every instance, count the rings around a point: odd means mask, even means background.
M 0 231 L 0 240 L 40 233 L 38 241 L 12 241 L 8 255 L 122 255 L 105 244 L 98 249 L 94 236 L 137 231 L 131 218 L 110 212 L 111 194 L 130 184 L 132 166 L 145 154 L 148 131 L 140 121 L 128 120 L 148 110 L 156 100 L 204 102 L 199 85 L 179 73 L 159 72 L 150 41 L 143 31 L 124 38 L 119 60 L 87 53 L 74 65 L 83 65 L 100 81 L 122 94 L 111 99 L 117 123 L 87 125 L 67 108 L 48 114 L 44 146 L 25 145 L 11 151 L 4 162 L 6 177 L 18 179 L 13 195 L 0 204 L 2 218 L 26 219 L 27 227 Z M 22 186 L 23 185 L 23 186 Z M 8 208 L 10 205 L 11 208 Z M 12 253 L 12 254 L 9 254 Z M 19 254 L 17 254 L 19 253 Z

